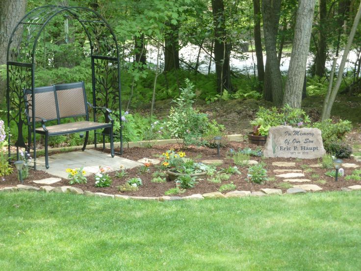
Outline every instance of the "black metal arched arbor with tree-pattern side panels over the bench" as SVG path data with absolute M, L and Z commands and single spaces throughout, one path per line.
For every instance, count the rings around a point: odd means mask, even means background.
M 14 145 L 30 149 L 33 148 L 34 168 L 36 169 L 36 138 L 35 138 L 35 99 L 34 88 L 36 84 L 36 49 L 39 37 L 44 28 L 57 16 L 63 15 L 77 20 L 86 32 L 90 45 L 91 69 L 92 69 L 92 99 L 93 106 L 107 107 L 119 112 L 116 117 L 121 124 L 121 85 L 120 85 L 120 61 L 119 49 L 116 36 L 104 20 L 104 18 L 89 8 L 67 7 L 47 5 L 35 8 L 27 13 L 14 28 L 7 47 L 7 121 L 8 127 L 16 124 L 18 137 Z M 106 76 L 106 80 L 104 77 Z M 23 127 L 27 125 L 26 114 L 24 113 L 25 98 L 24 89 L 31 89 L 32 110 L 32 138 L 29 133 L 28 144 L 26 145 L 23 136 Z M 94 110 L 94 118 L 96 118 Z M 106 118 L 105 118 L 106 119 Z M 121 125 L 120 125 L 121 126 Z M 122 132 L 120 129 L 121 151 L 123 152 Z M 9 135 L 9 157 L 10 157 L 10 135 Z M 95 143 L 97 133 L 95 134 Z

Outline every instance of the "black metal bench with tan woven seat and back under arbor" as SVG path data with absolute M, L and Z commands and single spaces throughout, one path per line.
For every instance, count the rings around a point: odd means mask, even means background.
M 24 90 L 26 102 L 26 117 L 28 122 L 29 146 L 32 129 L 32 97 L 31 89 Z M 84 82 L 65 83 L 52 86 L 36 87 L 34 89 L 35 122 L 41 122 L 41 127 L 35 128 L 36 134 L 45 135 L 45 166 L 49 168 L 48 139 L 49 136 L 67 135 L 86 132 L 84 145 L 85 150 L 88 142 L 89 131 L 104 129 L 103 135 L 110 136 L 111 156 L 114 157 L 113 123 L 111 110 L 105 107 L 94 107 L 86 100 Z M 108 122 L 89 121 L 88 106 L 93 109 L 105 110 Z M 85 116 L 85 120 L 84 119 Z M 61 123 L 65 118 L 82 117 L 75 122 Z M 57 121 L 57 124 L 47 126 L 48 121 Z M 106 131 L 106 132 L 104 132 Z M 35 135 L 34 135 L 35 136 Z M 104 136 L 103 136 L 104 141 Z M 103 142 L 104 143 L 104 142 Z M 36 146 L 34 146 L 35 149 Z

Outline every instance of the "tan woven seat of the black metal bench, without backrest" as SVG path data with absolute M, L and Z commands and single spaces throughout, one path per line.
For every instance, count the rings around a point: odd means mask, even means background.
M 92 122 L 92 121 L 84 120 L 78 122 L 47 126 L 46 129 L 48 130 L 49 135 L 64 135 L 64 134 L 91 131 L 95 129 L 102 129 L 107 127 L 111 127 L 111 123 Z M 41 133 L 45 134 L 46 132 L 42 127 L 36 128 L 35 130 L 37 133 L 40 134 Z

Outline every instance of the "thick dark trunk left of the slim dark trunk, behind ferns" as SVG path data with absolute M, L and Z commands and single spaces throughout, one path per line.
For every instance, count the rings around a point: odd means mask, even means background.
M 230 54 L 231 45 L 227 42 L 223 0 L 212 0 L 214 24 L 214 62 L 216 65 L 217 92 L 232 90 Z

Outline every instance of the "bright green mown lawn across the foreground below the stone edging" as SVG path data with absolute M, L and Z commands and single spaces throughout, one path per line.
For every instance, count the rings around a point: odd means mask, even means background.
M 0 270 L 360 270 L 361 191 L 145 202 L 0 193 Z

